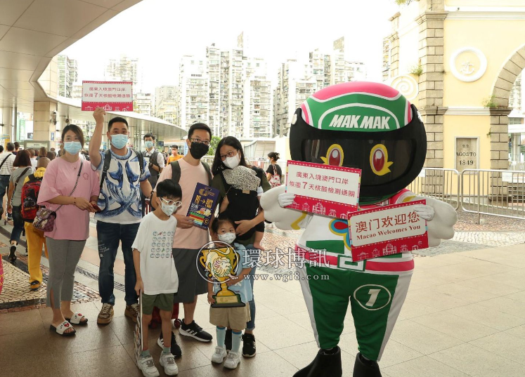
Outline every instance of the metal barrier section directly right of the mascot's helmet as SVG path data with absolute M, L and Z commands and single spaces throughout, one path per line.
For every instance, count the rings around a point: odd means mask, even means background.
M 420 197 L 438 199 L 454 209 L 460 208 L 460 173 L 455 169 L 422 168 L 407 188 Z

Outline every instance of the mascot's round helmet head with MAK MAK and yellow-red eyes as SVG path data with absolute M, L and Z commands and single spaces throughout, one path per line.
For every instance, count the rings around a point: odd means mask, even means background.
M 384 84 L 328 86 L 296 110 L 290 153 L 298 161 L 361 169 L 360 203 L 387 199 L 420 173 L 427 136 L 414 105 Z

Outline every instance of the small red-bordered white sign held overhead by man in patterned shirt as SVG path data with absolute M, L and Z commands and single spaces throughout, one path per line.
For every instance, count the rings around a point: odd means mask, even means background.
M 131 81 L 82 81 L 82 111 L 133 111 Z

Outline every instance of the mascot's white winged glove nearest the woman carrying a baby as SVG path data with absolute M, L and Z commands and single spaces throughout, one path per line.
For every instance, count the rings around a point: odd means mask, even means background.
M 285 192 L 285 186 L 273 187 L 261 197 L 261 207 L 264 209 L 264 218 L 276 224 L 282 230 L 299 229 L 298 220 L 304 213 L 294 209 L 283 208 L 294 201 L 294 194 Z

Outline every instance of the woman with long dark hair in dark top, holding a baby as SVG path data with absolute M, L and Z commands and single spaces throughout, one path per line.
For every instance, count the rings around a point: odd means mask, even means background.
M 246 164 L 240 141 L 233 136 L 228 136 L 217 145 L 212 173 L 214 174 L 212 187 L 220 192 L 219 209 L 227 212 L 228 216 L 237 224 L 235 242 L 244 245 L 247 250 L 254 249 L 256 231 L 264 232 L 264 213 L 259 207 L 257 190 L 270 190 L 270 184 L 264 175 L 264 171 L 261 168 Z M 221 205 L 223 201 L 228 202 L 227 207 Z M 253 275 L 256 268 L 257 266 L 252 268 L 252 272 L 250 272 L 252 277 L 249 282 L 252 284 L 252 291 Z M 242 355 L 245 357 L 255 355 L 254 299 L 249 301 L 249 311 L 250 320 L 247 322 L 245 334 L 242 336 Z M 231 349 L 231 330 L 226 333 L 226 349 Z

